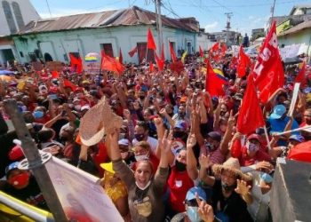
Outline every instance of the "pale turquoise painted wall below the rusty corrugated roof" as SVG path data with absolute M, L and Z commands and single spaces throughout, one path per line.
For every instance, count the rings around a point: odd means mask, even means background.
M 89 52 L 100 53 L 100 44 L 110 43 L 113 46 L 114 56 L 119 56 L 121 47 L 124 62 L 138 62 L 138 54 L 132 58 L 128 52 L 136 46 L 137 43 L 147 42 L 147 26 L 132 26 L 118 28 L 92 28 L 84 30 L 72 30 L 67 32 L 41 33 L 36 35 L 25 35 L 26 41 L 21 41 L 19 36 L 14 36 L 13 40 L 17 52 L 23 52 L 24 57 L 19 58 L 20 62 L 28 62 L 28 52 L 34 52 L 40 45 L 41 52 L 49 52 L 52 59 L 65 61 L 64 54 L 68 52 L 80 52 L 81 56 Z M 156 29 L 152 28 L 155 42 L 157 44 Z M 163 28 L 163 43 L 165 59 L 170 59 L 169 41 L 176 43 L 176 54 L 180 49 L 186 49 L 187 42 L 191 42 L 193 48 L 196 47 L 195 33 L 175 30 L 172 28 Z M 44 43 L 44 44 L 43 44 Z M 48 46 L 46 46 L 48 44 Z

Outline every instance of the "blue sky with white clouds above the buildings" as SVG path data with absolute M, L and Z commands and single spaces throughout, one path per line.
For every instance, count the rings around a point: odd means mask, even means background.
M 132 5 L 155 11 L 154 0 L 30 0 L 42 18 L 124 9 Z M 253 28 L 265 28 L 274 0 L 161 0 L 161 12 L 171 18 L 195 17 L 205 32 L 225 29 L 232 12 L 231 30 L 251 35 Z M 288 15 L 293 5 L 310 0 L 275 0 L 275 16 Z

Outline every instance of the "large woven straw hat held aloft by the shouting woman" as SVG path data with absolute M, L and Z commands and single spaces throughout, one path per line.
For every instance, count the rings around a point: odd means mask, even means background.
M 80 138 L 84 145 L 90 147 L 99 143 L 105 134 L 121 126 L 122 118 L 113 113 L 108 105 L 108 99 L 104 97 L 81 119 Z

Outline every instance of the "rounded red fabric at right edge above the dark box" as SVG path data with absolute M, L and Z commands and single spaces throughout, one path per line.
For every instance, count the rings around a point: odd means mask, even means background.
M 311 140 L 292 147 L 288 159 L 311 163 Z

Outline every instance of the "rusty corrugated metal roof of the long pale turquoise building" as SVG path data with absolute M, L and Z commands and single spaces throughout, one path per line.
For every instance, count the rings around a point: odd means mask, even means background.
M 129 9 L 107 12 L 92 12 L 62 16 L 49 20 L 30 21 L 17 35 L 62 31 L 78 28 L 101 28 L 117 26 L 134 26 L 139 24 L 151 25 L 156 21 L 156 14 L 140 7 L 133 6 Z M 188 26 L 179 20 L 162 16 L 163 26 L 185 29 L 196 32 L 195 28 Z

